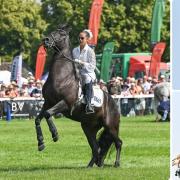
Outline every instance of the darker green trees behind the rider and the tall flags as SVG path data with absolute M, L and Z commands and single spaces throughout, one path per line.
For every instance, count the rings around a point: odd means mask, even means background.
M 115 3 L 116 2 L 116 3 Z M 68 23 L 72 27 L 71 42 L 78 44 L 78 33 L 87 28 L 92 1 L 89 0 L 42 0 L 42 15 L 49 24 L 47 33 L 58 23 Z M 115 42 L 115 51 L 150 52 L 152 0 L 107 0 L 103 5 L 101 25 L 96 53 L 101 53 L 106 42 Z M 169 3 L 162 27 L 162 40 L 169 47 Z M 167 49 L 168 49 L 167 47 Z M 169 51 L 166 52 L 169 60 Z

